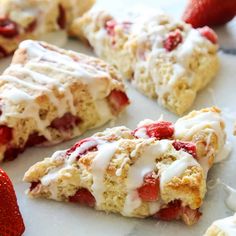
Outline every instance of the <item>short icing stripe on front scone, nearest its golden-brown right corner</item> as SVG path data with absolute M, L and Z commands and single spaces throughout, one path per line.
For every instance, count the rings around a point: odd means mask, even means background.
M 180 159 L 172 162 L 169 166 L 165 166 L 163 171 L 161 170 L 160 174 L 160 187 L 161 190 L 164 188 L 164 185 L 171 181 L 173 177 L 179 177 L 183 172 L 191 166 L 199 166 L 199 163 L 188 153 L 179 151 L 181 154 Z

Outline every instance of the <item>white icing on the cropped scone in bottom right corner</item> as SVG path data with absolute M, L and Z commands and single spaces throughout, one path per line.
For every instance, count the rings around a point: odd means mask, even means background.
M 213 225 L 220 228 L 227 236 L 236 235 L 236 214 L 233 216 L 216 220 Z

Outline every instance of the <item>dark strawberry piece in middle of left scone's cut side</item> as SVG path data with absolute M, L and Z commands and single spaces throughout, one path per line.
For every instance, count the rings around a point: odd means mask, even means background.
M 62 117 L 54 119 L 50 127 L 60 131 L 67 131 L 78 125 L 80 122 L 81 119 L 79 117 L 67 112 Z

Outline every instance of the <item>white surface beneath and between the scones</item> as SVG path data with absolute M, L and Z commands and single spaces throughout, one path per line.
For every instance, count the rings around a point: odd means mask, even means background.
M 185 4 L 183 0 L 97 0 L 97 2 L 98 6 L 111 9 L 116 13 L 122 12 L 137 4 L 145 4 L 151 7 L 162 6 L 164 10 L 175 17 L 180 17 L 183 5 Z M 221 45 L 236 48 L 236 20 L 224 27 L 216 29 L 216 31 L 219 34 Z M 55 42 L 58 42 L 58 39 Z M 88 48 L 85 48 L 77 41 L 70 40 L 65 47 L 91 54 Z M 232 136 L 232 128 L 233 121 L 236 119 L 236 56 L 229 56 L 223 53 L 219 55 L 221 60 L 219 74 L 204 91 L 199 93 L 192 108 L 200 109 L 211 105 L 219 106 L 224 112 L 229 139 L 233 142 L 233 146 L 235 146 L 236 138 Z M 10 59 L 2 60 L 0 62 L 0 69 L 3 70 L 9 61 Z M 139 94 L 129 85 L 128 95 L 132 104 L 114 125 L 122 124 L 134 128 L 140 120 L 144 118 L 158 119 L 161 114 L 167 120 L 175 121 L 177 119 L 175 115 L 159 107 L 155 101 L 149 100 Z M 97 130 L 87 132 L 83 137 L 103 129 L 104 127 L 101 127 Z M 24 191 L 28 186 L 21 181 L 25 171 L 35 162 L 42 160 L 46 156 L 50 156 L 58 149 L 70 147 L 75 141 L 76 139 L 50 148 L 31 148 L 20 155 L 15 161 L 0 164 L 13 180 L 20 209 L 26 224 L 25 236 L 199 236 L 203 234 L 214 220 L 232 215 L 232 212 L 224 204 L 226 195 L 222 186 L 209 189 L 205 203 L 201 208 L 203 216 L 196 225 L 191 227 L 181 222 L 130 219 L 120 215 L 97 212 L 93 209 L 75 204 L 27 198 Z M 233 150 L 228 160 L 216 164 L 211 169 L 208 180 L 220 178 L 226 184 L 236 188 L 235 155 L 236 151 Z

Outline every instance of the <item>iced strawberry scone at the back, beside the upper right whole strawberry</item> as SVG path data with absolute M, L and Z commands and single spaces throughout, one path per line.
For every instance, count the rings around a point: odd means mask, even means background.
M 91 10 L 74 21 L 70 33 L 87 41 L 138 90 L 179 115 L 218 70 L 217 37 L 210 28 L 193 29 L 158 11 L 119 19 Z

